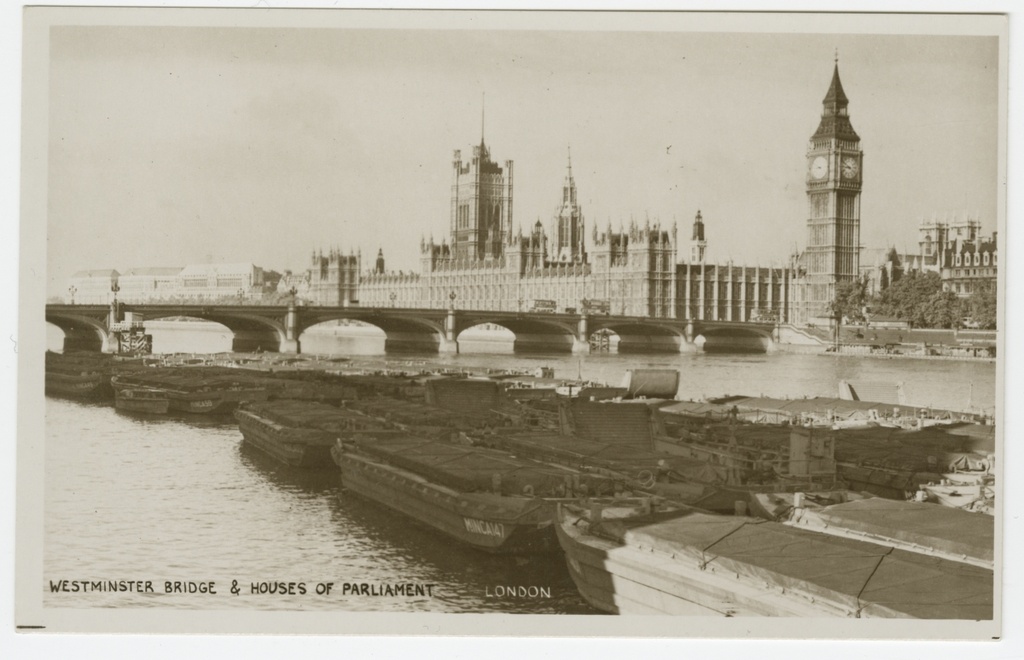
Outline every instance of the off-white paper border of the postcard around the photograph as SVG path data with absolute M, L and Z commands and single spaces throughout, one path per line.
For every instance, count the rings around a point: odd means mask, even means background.
M 923 7 L 924 9 L 924 7 Z M 45 16 L 47 23 L 54 23 L 56 11 Z M 291 26 L 303 27 L 310 16 L 295 14 L 283 15 L 275 11 L 211 10 L 187 11 L 180 9 L 154 10 L 142 12 L 133 10 L 114 10 L 116 15 L 100 9 L 61 9 L 59 23 L 70 19 L 79 25 L 239 25 L 257 26 Z M 334 14 L 334 15 L 331 15 Z M 427 12 L 416 17 L 418 27 L 423 29 L 436 28 L 444 24 L 452 14 L 442 12 Z M 460 20 L 466 21 L 466 29 L 530 29 L 537 26 L 537 16 L 519 13 L 501 14 L 455 14 Z M 999 34 L 1000 59 L 1007 61 L 1009 33 L 1001 24 L 1001 17 L 993 16 L 990 20 L 980 20 L 984 28 L 976 32 L 965 31 L 963 20 L 958 16 L 920 16 L 908 14 L 887 14 L 884 16 L 858 14 L 846 16 L 842 26 L 836 25 L 822 28 L 821 16 L 809 14 L 686 14 L 685 29 L 714 30 L 720 32 L 818 32 L 818 33 L 850 33 L 871 32 L 874 34 Z M 674 21 L 680 20 L 678 14 L 658 16 L 656 25 L 649 23 L 650 16 L 629 14 L 552 14 L 543 15 L 546 28 L 567 30 L 662 30 Z M 827 20 L 828 17 L 826 16 Z M 38 43 L 30 42 L 30 23 L 35 17 L 29 14 L 27 18 L 25 53 L 27 61 L 31 58 L 33 48 Z M 328 27 L 344 24 L 360 27 L 397 27 L 401 21 L 394 14 L 344 14 L 336 12 L 317 12 L 316 25 Z M 555 25 L 551 25 L 552 21 Z M 562 21 L 561 25 L 558 25 Z M 643 24 L 643 25 L 642 25 Z M 785 24 L 784 26 L 782 24 Z M 38 26 L 37 26 L 38 27 Z M 406 26 L 408 27 L 408 26 Z M 973 28 L 973 26 L 972 26 Z M 40 61 L 45 62 L 45 59 Z M 44 68 L 45 70 L 45 68 Z M 1000 72 L 1000 104 L 1004 108 L 1004 131 L 1006 131 L 1007 108 L 1007 69 Z M 45 80 L 45 74 L 42 80 Z M 43 610 L 41 606 L 42 590 L 39 588 L 42 579 L 41 554 L 35 552 L 41 548 L 42 527 L 42 487 L 41 479 L 29 476 L 42 474 L 42 369 L 41 356 L 45 347 L 45 337 L 42 315 L 38 314 L 43 300 L 43 276 L 45 273 L 45 148 L 39 145 L 46 143 L 45 121 L 45 85 L 35 76 L 28 76 L 25 86 L 23 107 L 26 121 L 23 134 L 23 172 L 25 173 L 22 191 L 23 236 L 20 254 L 22 281 L 22 314 L 16 334 L 20 379 L 18 382 L 18 446 L 17 446 L 17 496 L 18 496 L 18 565 L 14 579 L 17 585 L 19 605 L 26 609 L 16 612 L 18 623 L 30 621 L 45 621 L 47 629 L 66 631 L 120 632 L 127 630 L 145 632 L 292 632 L 292 633 L 337 633 L 352 632 L 361 634 L 495 634 L 495 635 L 610 635 L 618 637 L 639 636 L 676 636 L 680 635 L 678 628 L 686 623 L 686 619 L 678 617 L 569 617 L 569 616 L 530 616 L 530 615 L 430 615 L 430 614 L 355 614 L 355 613 L 264 613 L 224 611 L 211 616 L 208 612 L 181 611 L 94 611 L 94 610 Z M 40 104 L 42 102 L 42 104 Z M 1005 134 L 1005 133 L 1004 133 Z M 1005 140 L 1001 142 L 1005 144 Z M 1006 180 L 1007 152 L 1000 147 L 1000 173 Z M 43 176 L 39 176 L 42 173 Z M 999 225 L 1000 250 L 1005 250 L 1006 228 L 1006 197 L 1000 203 L 1001 219 Z M 40 214 L 39 211 L 42 210 Z M 1016 251 L 1013 252 L 1016 254 Z M 1005 262 L 1007 263 L 1007 262 Z M 1000 269 L 1004 277 L 1006 269 Z M 1006 305 L 1004 313 L 1006 313 Z M 36 313 L 25 313 L 26 309 L 35 309 Z M 1016 311 L 1016 310 L 1012 310 Z M 1013 322 L 1013 319 L 1008 319 Z M 1006 324 L 1005 324 L 1006 326 Z M 1006 334 L 1002 341 L 1006 340 Z M 1000 355 L 1007 355 L 1006 346 L 1000 346 Z M 40 356 L 34 358 L 34 356 Z M 33 366 L 33 359 L 37 364 Z M 999 373 L 1005 372 L 1007 358 L 1000 358 Z M 1001 415 L 1005 406 L 999 406 Z M 35 415 L 35 416 L 33 416 Z M 1006 425 L 1000 425 L 1006 428 Z M 1005 455 L 1006 455 L 1005 448 Z M 1006 461 L 1002 461 L 1006 464 Z M 1001 480 L 1005 481 L 1005 480 Z M 1008 490 L 1010 490 L 1008 488 Z M 1009 494 L 1009 493 L 1008 493 Z M 37 524 L 38 523 L 38 524 Z M 29 541 L 38 541 L 38 545 L 26 545 Z M 38 603 L 20 601 L 23 595 L 38 595 Z M 339 615 L 346 620 L 339 624 Z M 36 617 L 39 618 L 36 618 Z M 408 619 L 408 620 L 407 620 Z M 692 636 L 714 637 L 863 637 L 874 639 L 978 639 L 998 634 L 990 624 L 975 624 L 973 622 L 867 622 L 867 621 L 816 621 L 808 619 L 771 619 L 767 621 L 718 620 L 700 619 L 698 630 Z M 738 622 L 738 623 L 737 623 Z M 724 624 L 724 625 L 723 625 Z M 864 624 L 869 624 L 865 630 Z M 697 627 L 697 626 L 693 626 Z M 682 634 L 680 636 L 691 636 Z

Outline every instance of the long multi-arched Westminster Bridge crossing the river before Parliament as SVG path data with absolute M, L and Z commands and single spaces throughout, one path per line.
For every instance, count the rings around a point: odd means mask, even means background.
M 130 314 L 126 314 L 130 313 Z M 595 334 L 614 333 L 620 352 L 767 352 L 777 325 L 768 322 L 394 307 L 303 305 L 124 304 L 46 306 L 46 320 L 65 333 L 65 348 L 111 352 L 126 316 L 145 320 L 187 317 L 213 321 L 232 333 L 233 351 L 299 353 L 302 333 L 338 320 L 359 321 L 385 334 L 386 351 L 458 353 L 459 335 L 492 323 L 515 335 L 516 351 L 589 353 Z

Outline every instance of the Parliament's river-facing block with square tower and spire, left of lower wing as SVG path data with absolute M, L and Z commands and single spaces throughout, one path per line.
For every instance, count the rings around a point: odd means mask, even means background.
M 569 161 L 561 203 L 553 214 L 553 238 L 540 220 L 528 231 L 520 228 L 513 233 L 512 162 L 498 167 L 489 153 L 482 139 L 469 163 L 456 151 L 451 234 L 441 241 L 421 240 L 420 272 L 384 272 L 382 266 L 375 267 L 359 275 L 356 290 L 336 293 L 337 285 L 351 281 L 351 272 L 343 265 L 351 262 L 339 261 L 333 275 L 334 262 L 325 266 L 317 257 L 311 301 L 502 311 L 582 310 L 595 303 L 609 313 L 675 316 L 675 227 L 648 220 L 643 225 L 632 222 L 620 231 L 595 228 L 593 251 L 588 254 Z M 382 262 L 379 255 L 378 264 Z

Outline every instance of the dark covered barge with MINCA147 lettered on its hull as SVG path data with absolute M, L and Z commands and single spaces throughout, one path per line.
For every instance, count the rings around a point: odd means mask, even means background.
M 614 488 L 597 475 L 403 432 L 331 451 L 349 491 L 493 554 L 557 553 L 552 498 Z

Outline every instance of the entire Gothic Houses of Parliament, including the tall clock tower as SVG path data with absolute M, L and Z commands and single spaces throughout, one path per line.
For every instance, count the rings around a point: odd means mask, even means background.
M 481 135 L 452 161 L 447 238 L 421 239 L 420 271 L 385 269 L 378 252 L 314 254 L 307 298 L 362 307 L 530 311 L 600 310 L 654 318 L 804 323 L 828 316 L 838 283 L 859 276 L 863 152 L 837 61 L 807 151 L 807 246 L 773 267 L 707 263 L 699 211 L 688 243 L 675 224 L 591 225 L 579 203 L 571 155 L 550 231 L 513 229 L 513 162 L 493 160 Z M 688 214 L 687 214 L 688 215 Z M 369 265 L 369 264 L 368 264 Z

